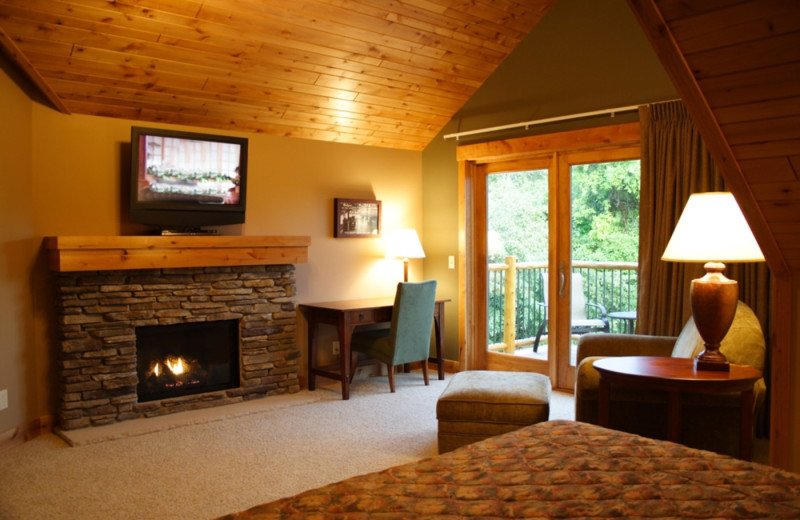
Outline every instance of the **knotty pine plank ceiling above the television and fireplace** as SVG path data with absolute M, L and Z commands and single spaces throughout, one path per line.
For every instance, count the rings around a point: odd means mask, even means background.
M 55 107 L 422 150 L 556 0 L 0 0 Z

